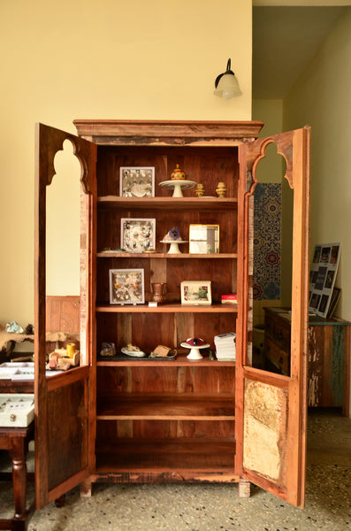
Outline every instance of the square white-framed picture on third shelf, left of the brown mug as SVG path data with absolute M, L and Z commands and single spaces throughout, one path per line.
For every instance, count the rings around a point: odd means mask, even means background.
M 144 304 L 144 270 L 110 269 L 110 304 Z

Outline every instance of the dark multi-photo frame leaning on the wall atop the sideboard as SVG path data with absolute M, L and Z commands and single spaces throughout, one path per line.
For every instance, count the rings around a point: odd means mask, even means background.
M 330 317 L 335 310 L 338 290 L 334 288 L 340 260 L 340 242 L 317 245 L 309 271 L 309 312 Z

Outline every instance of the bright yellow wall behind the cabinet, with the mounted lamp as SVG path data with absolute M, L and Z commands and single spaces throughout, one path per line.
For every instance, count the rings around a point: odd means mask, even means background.
M 34 122 L 251 119 L 251 19 L 251 0 L 2 0 L 1 324 L 33 322 Z M 232 100 L 212 95 L 228 58 Z

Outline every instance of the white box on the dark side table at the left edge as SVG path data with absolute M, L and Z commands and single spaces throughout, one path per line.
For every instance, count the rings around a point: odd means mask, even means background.
M 0 393 L 0 427 L 27 427 L 33 419 L 33 394 Z

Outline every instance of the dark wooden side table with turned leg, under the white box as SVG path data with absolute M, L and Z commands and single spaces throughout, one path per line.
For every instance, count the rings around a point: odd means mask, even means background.
M 27 451 L 34 439 L 34 421 L 28 427 L 0 427 L 0 450 L 8 450 L 12 459 L 12 484 L 15 513 L 11 519 L 0 519 L 0 529 L 26 531 L 34 513 L 34 502 L 27 509 Z M 2 473 L 0 479 L 8 480 L 11 473 Z

